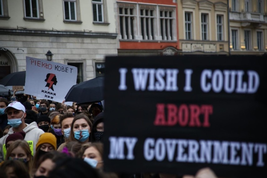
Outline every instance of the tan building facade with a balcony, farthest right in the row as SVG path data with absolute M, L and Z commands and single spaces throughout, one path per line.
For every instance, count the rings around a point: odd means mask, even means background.
M 267 51 L 267 1 L 229 0 L 231 55 Z

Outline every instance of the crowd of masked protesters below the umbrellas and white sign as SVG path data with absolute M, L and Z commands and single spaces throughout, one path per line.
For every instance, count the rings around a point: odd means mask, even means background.
M 193 178 L 193 175 L 105 173 L 100 103 L 67 106 L 34 96 L 0 97 L 0 178 Z M 106 165 L 108 166 L 108 165 Z M 216 178 L 200 170 L 198 178 Z

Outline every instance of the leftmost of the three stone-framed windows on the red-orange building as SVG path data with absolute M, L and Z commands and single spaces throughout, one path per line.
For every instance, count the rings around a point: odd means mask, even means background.
M 122 35 L 122 39 L 134 39 L 134 8 L 120 7 L 119 19 L 120 33 Z

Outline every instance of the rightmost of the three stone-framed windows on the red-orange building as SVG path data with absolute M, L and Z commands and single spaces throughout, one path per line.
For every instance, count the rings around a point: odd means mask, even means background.
M 160 34 L 163 40 L 173 40 L 174 15 L 171 10 L 160 10 Z

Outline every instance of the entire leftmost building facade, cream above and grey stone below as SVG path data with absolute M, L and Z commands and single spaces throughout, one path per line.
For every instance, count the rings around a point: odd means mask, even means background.
M 26 56 L 78 67 L 77 83 L 103 75 L 117 55 L 115 0 L 0 0 L 0 79 L 26 70 Z

